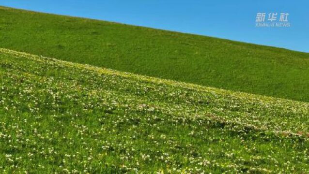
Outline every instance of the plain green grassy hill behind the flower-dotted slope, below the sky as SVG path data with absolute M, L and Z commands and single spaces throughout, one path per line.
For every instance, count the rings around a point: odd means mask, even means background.
M 0 15 L 0 47 L 309 102 L 308 53 L 6 7 Z

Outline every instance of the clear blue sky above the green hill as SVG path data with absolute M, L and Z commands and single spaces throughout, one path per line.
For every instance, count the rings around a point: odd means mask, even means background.
M 1 0 L 0 5 L 309 52 L 309 0 Z M 291 27 L 256 27 L 289 13 Z M 278 20 L 277 19 L 277 20 Z

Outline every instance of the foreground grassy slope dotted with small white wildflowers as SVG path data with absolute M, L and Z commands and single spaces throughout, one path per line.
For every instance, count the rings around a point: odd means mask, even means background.
M 309 103 L 0 49 L 1 173 L 308 173 Z

